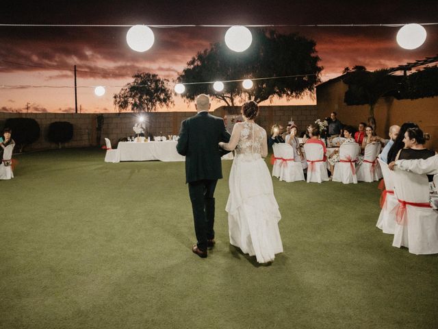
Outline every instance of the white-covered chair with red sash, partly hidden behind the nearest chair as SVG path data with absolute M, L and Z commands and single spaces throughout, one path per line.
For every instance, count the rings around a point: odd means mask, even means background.
M 382 169 L 385 190 L 382 191 L 382 210 L 380 215 L 378 215 L 376 226 L 380 228 L 383 233 L 394 234 L 394 230 L 396 230 L 398 199 L 396 195 L 394 195 L 393 172 L 389 170 L 388 165 L 383 162 L 381 158 L 377 158 L 377 161 Z

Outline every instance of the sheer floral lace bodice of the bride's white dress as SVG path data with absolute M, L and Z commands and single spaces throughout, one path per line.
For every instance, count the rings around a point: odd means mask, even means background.
M 235 155 L 240 156 L 266 156 L 266 131 L 257 123 L 236 123 L 231 134 L 230 142 L 224 144 L 224 149 L 235 149 Z

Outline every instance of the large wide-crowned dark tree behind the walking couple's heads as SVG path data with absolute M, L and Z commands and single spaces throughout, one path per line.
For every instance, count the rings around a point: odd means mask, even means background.
M 190 84 L 182 95 L 193 100 L 201 93 L 211 94 L 234 106 L 238 97 L 247 96 L 257 103 L 278 96 L 286 99 L 312 93 L 320 82 L 322 66 L 315 50 L 315 41 L 298 34 L 280 34 L 274 30 L 255 29 L 253 44 L 242 53 L 231 51 L 224 42 L 218 42 L 196 54 L 188 63 L 177 82 L 213 82 L 273 77 L 254 80 L 250 90 L 242 82 L 226 82 L 218 93 L 212 84 Z M 284 76 L 293 77 L 284 77 Z M 284 77 L 284 78 L 276 78 Z

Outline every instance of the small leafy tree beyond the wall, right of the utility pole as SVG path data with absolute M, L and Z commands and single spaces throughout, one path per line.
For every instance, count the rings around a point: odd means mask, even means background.
M 120 93 L 114 94 L 114 106 L 119 111 L 153 112 L 157 106 L 173 104 L 172 92 L 166 86 L 168 80 L 151 73 L 136 73 L 133 78 Z

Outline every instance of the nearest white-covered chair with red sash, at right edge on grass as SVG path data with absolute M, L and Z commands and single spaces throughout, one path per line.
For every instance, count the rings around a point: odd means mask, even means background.
M 430 206 L 426 175 L 394 169 L 394 192 L 398 199 L 394 247 L 412 254 L 438 254 L 438 212 Z

